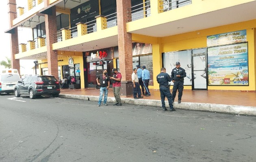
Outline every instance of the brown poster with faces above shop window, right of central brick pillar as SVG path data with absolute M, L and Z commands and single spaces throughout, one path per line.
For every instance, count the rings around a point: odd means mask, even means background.
M 132 43 L 132 55 L 144 55 L 152 53 L 152 44 L 147 43 Z

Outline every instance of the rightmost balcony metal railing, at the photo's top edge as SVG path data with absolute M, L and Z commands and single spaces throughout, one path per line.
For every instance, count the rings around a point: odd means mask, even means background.
M 192 0 L 160 0 L 159 2 L 161 4 L 160 7 L 163 8 L 160 10 L 162 12 L 192 4 Z

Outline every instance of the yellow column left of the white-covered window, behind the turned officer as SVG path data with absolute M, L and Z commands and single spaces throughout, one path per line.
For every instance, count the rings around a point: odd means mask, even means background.
M 158 38 L 160 39 L 160 38 Z M 159 41 L 158 41 L 159 42 Z M 152 59 L 153 59 L 153 69 L 154 69 L 154 89 L 159 89 L 159 84 L 156 81 L 156 76 L 161 72 L 162 68 L 162 50 L 161 44 L 152 44 Z

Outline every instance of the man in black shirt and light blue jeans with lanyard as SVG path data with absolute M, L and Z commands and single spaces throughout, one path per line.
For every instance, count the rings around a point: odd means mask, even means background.
M 100 86 L 100 98 L 99 98 L 99 101 L 98 101 L 98 106 L 100 106 L 100 104 L 101 104 L 103 92 L 104 92 L 103 104 L 105 106 L 107 106 L 108 104 L 106 103 L 106 101 L 108 99 L 108 87 L 110 85 L 110 79 L 107 75 L 107 70 L 106 69 L 103 70 L 102 75 L 99 75 L 97 77 L 96 81 L 97 81 L 97 84 Z

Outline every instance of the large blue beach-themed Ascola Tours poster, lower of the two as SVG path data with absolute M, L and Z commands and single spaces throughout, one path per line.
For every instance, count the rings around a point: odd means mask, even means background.
M 210 47 L 208 85 L 249 85 L 247 43 Z

